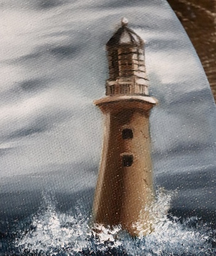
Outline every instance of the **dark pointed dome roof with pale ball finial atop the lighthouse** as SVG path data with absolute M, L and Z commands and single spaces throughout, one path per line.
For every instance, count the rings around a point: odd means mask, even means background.
M 110 38 L 106 46 L 119 47 L 119 46 L 140 46 L 142 47 L 144 42 L 140 36 L 138 36 L 133 30 L 127 27 L 128 20 L 123 18 L 121 20 L 121 27 Z

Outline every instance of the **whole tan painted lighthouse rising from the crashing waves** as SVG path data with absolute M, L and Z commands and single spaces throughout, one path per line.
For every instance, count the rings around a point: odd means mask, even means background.
M 137 236 L 136 223 L 154 198 L 149 118 L 157 100 L 148 94 L 144 42 L 127 23 L 123 18 L 106 44 L 110 77 L 106 96 L 94 102 L 103 113 L 104 134 L 93 218 Z M 147 230 L 150 216 L 144 216 Z

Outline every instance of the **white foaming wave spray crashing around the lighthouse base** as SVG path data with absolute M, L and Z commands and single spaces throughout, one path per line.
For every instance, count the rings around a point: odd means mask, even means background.
M 22 231 L 15 241 L 20 255 L 215 255 L 215 233 L 198 218 L 180 223 L 168 218 L 167 210 L 174 192 L 161 189 L 156 201 L 143 209 L 151 213 L 153 232 L 143 236 L 143 223 L 136 223 L 140 237 L 132 238 L 121 226 L 108 229 L 90 226 L 90 216 L 79 205 L 76 213 L 60 213 L 47 200 L 46 209 L 33 217 L 31 229 Z M 95 232 L 95 228 L 100 232 Z

